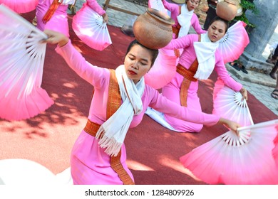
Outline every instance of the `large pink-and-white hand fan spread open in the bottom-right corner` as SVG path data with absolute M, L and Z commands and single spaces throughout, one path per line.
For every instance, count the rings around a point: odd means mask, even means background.
M 180 161 L 209 184 L 277 184 L 272 156 L 278 119 L 227 131 L 182 156 Z

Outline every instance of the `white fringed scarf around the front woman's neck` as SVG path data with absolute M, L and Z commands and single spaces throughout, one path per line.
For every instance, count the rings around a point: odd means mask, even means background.
M 135 114 L 140 114 L 143 109 L 142 95 L 145 90 L 144 77 L 135 85 L 125 73 L 125 66 L 120 65 L 115 70 L 115 75 L 120 87 L 120 97 L 123 104 L 120 108 L 98 129 L 96 138 L 101 148 L 106 148 L 109 156 L 117 156 L 125 140 L 130 123 Z

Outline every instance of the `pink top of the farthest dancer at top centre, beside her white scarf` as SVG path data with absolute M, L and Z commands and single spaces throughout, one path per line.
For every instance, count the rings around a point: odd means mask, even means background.
M 165 9 L 168 9 L 168 11 L 171 12 L 171 18 L 173 18 L 173 20 L 175 21 L 175 25 L 173 25 L 173 26 L 177 27 L 177 24 L 179 24 L 177 21 L 177 16 L 180 15 L 179 5 L 171 4 L 166 0 L 163 0 L 163 5 L 165 6 Z M 199 19 L 195 13 L 192 15 L 190 23 L 197 34 L 202 34 L 202 33 L 206 32 L 206 31 L 202 30 L 202 27 L 200 26 L 200 23 L 199 23 Z

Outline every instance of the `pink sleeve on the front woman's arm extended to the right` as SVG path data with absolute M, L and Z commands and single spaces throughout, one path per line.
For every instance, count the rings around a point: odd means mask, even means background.
M 158 110 L 159 112 L 169 114 L 170 116 L 185 120 L 187 122 L 204 124 L 206 126 L 215 125 L 220 119 L 220 117 L 215 114 L 206 114 L 204 112 L 196 111 L 195 109 L 182 107 L 161 95 L 157 90 L 151 87 L 150 90 L 151 91 L 148 93 L 148 95 L 153 96 L 153 99 L 151 100 L 149 106 Z M 151 92 L 154 93 L 151 94 Z

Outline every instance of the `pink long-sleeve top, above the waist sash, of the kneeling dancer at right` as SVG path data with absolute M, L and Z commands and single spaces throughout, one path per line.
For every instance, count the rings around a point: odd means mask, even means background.
M 197 58 L 193 45 L 193 43 L 197 41 L 198 35 L 190 34 L 181 38 L 172 39 L 172 41 L 165 46 L 165 49 L 183 48 L 183 52 L 180 55 L 179 63 L 180 65 L 188 69 L 190 68 L 190 65 L 192 65 L 194 60 Z M 242 85 L 239 82 L 236 82 L 234 79 L 232 79 L 232 77 L 228 74 L 227 69 L 225 67 L 225 63 L 218 49 L 215 52 L 214 70 L 217 72 L 217 75 L 224 81 L 225 85 L 227 85 L 235 91 L 241 90 Z

